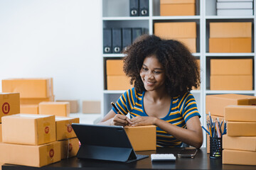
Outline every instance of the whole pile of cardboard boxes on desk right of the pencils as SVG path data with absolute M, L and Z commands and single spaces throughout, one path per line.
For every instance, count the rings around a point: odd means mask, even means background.
M 256 134 L 256 123 L 248 123 L 245 122 L 245 120 L 255 121 L 255 113 L 250 113 L 250 116 L 246 116 L 245 110 L 242 111 L 238 108 L 255 108 L 256 105 L 256 96 L 246 96 L 246 95 L 240 95 L 240 94 L 218 94 L 218 95 L 208 95 L 206 96 L 206 113 L 211 114 L 212 118 L 219 118 L 221 120 L 228 120 L 227 123 L 227 135 L 223 135 L 223 164 L 255 164 L 252 163 L 251 160 L 255 160 L 256 152 L 253 152 L 250 154 L 247 154 L 247 156 L 251 156 L 253 159 L 248 159 L 247 161 L 245 159 L 241 159 L 239 153 L 241 151 L 235 151 L 235 149 L 242 150 L 242 147 L 244 148 L 250 148 L 251 151 L 254 148 L 256 144 L 254 137 L 248 137 L 247 139 L 240 137 L 242 140 L 236 140 L 234 142 L 233 137 L 230 137 L 230 135 L 245 135 L 247 134 L 245 131 L 252 128 L 252 130 L 249 130 L 249 134 L 253 135 Z M 228 112 L 227 112 L 228 109 Z M 240 110 L 242 112 L 238 112 L 235 110 Z M 228 114 L 227 114 L 228 113 Z M 225 115 L 225 116 L 224 116 Z M 252 117 L 251 117 L 252 116 Z M 240 121 L 235 122 L 235 121 Z M 244 122 L 242 122 L 244 121 Z M 247 134 L 248 135 L 248 134 Z M 238 138 L 237 138 L 238 139 Z M 230 142 L 233 140 L 233 142 Z M 246 142 L 245 140 L 250 140 L 250 146 L 245 146 Z M 245 143 L 242 143 L 240 141 L 244 141 Z M 234 147 L 240 146 L 240 147 Z M 234 150 L 229 150 L 234 149 Z M 245 149 L 246 150 L 246 149 Z M 233 154 L 233 153 L 238 154 Z M 210 153 L 210 137 L 208 136 L 207 139 L 207 153 Z M 242 152 L 243 153 L 243 152 Z M 246 153 L 245 153 L 246 154 Z M 236 155 L 236 156 L 235 156 Z M 240 160 L 238 160 L 240 159 Z

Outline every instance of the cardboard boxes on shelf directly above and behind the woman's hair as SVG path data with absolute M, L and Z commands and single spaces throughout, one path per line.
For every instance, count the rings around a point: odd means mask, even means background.
M 191 52 L 196 52 L 196 22 L 154 23 L 154 35 L 179 40 Z

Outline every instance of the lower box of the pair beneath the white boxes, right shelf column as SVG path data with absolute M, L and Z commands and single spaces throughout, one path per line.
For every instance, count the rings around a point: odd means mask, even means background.
M 252 52 L 252 38 L 209 38 L 209 52 Z

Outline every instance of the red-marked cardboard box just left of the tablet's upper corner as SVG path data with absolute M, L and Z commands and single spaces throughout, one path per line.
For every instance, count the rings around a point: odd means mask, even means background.
M 56 122 L 56 140 L 65 140 L 76 137 L 72 123 L 79 123 L 79 118 L 67 118 L 55 116 Z

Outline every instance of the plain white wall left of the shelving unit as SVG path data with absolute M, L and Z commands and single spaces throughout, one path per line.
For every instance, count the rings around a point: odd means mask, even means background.
M 100 0 L 0 0 L 0 79 L 53 77 L 55 99 L 102 99 Z

